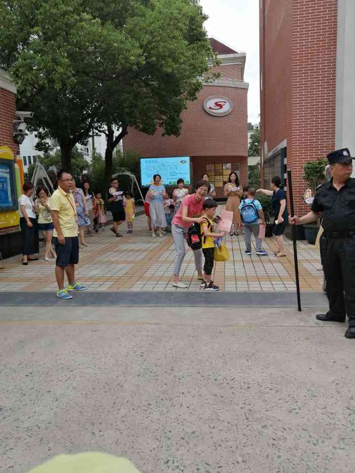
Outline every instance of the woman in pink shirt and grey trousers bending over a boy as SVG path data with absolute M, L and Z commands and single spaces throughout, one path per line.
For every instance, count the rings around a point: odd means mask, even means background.
M 204 198 L 208 194 L 209 190 L 209 183 L 206 183 L 203 180 L 199 180 L 195 186 L 195 194 L 191 194 L 189 196 L 184 197 L 182 205 L 176 212 L 171 222 L 171 233 L 176 250 L 172 285 L 174 287 L 179 287 L 180 289 L 187 288 L 186 284 L 179 281 L 180 268 L 184 261 L 186 253 L 186 234 L 191 224 L 200 224 L 202 222 L 202 205 L 204 202 Z M 194 257 L 198 279 L 203 280 L 202 250 L 195 250 Z

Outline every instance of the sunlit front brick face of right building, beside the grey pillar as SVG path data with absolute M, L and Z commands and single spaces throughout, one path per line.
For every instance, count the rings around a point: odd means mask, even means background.
M 302 196 L 303 165 L 335 147 L 337 0 L 294 0 L 292 22 L 292 170 L 295 207 L 309 210 Z

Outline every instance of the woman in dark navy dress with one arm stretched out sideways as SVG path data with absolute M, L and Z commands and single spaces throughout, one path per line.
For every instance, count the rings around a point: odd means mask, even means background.
M 262 194 L 272 197 L 272 208 L 275 212 L 275 222 L 272 227 L 272 233 L 276 238 L 277 249 L 275 254 L 278 258 L 280 258 L 286 256 L 285 244 L 283 242 L 283 233 L 285 232 L 289 221 L 289 211 L 286 204 L 286 193 L 283 190 L 283 184 L 281 184 L 281 179 L 279 176 L 274 176 L 271 179 L 270 187 L 272 191 L 268 191 L 267 189 L 258 189 L 257 192 L 261 192 Z

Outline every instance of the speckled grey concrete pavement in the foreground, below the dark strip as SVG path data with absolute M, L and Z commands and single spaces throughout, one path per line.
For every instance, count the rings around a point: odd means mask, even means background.
M 98 450 L 143 473 L 352 472 L 355 341 L 316 313 L 0 307 L 0 471 Z

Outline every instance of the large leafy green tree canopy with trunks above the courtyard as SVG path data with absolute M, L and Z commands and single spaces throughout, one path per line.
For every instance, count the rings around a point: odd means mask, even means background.
M 106 131 L 107 179 L 129 126 L 179 134 L 216 60 L 198 0 L 0 0 L 0 13 L 0 61 L 31 129 L 58 140 L 68 169 L 73 147 Z

